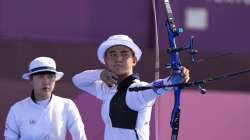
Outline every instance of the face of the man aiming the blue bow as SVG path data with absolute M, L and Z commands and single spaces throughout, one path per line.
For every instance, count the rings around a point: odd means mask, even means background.
M 133 67 L 137 63 L 134 52 L 124 45 L 116 45 L 105 53 L 105 65 L 114 74 L 126 77 L 133 74 Z

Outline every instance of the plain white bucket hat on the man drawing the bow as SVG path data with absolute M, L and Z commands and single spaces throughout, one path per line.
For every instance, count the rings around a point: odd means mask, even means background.
M 105 52 L 115 45 L 124 45 L 129 47 L 134 52 L 137 61 L 140 60 L 142 51 L 130 37 L 127 35 L 112 35 L 107 40 L 102 42 L 97 50 L 97 57 L 103 64 L 105 64 Z

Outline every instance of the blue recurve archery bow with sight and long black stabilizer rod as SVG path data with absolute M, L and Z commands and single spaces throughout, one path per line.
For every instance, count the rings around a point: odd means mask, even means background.
M 183 29 L 176 28 L 174 17 L 173 17 L 173 12 L 172 12 L 169 0 L 164 0 L 164 3 L 165 3 L 166 15 L 167 15 L 166 27 L 167 27 L 168 39 L 169 39 L 169 48 L 167 49 L 167 53 L 170 54 L 170 58 L 171 58 L 171 64 L 167 64 L 166 67 L 172 69 L 173 73 L 171 77 L 174 77 L 175 79 L 177 79 L 174 81 L 181 81 L 182 76 L 180 75 L 180 72 L 183 66 L 181 64 L 179 52 L 187 50 L 192 56 L 192 62 L 195 62 L 195 54 L 197 54 L 198 51 L 194 49 L 194 37 L 193 36 L 190 37 L 189 44 L 187 47 L 177 48 L 175 38 L 178 37 L 183 32 Z M 173 87 L 174 95 L 175 95 L 175 104 L 172 110 L 171 121 L 170 121 L 170 125 L 172 127 L 171 140 L 177 140 L 178 132 L 179 132 L 180 113 L 181 113 L 181 109 L 180 109 L 180 97 L 181 96 L 180 95 L 181 95 L 181 91 L 183 88 L 198 87 L 200 89 L 200 92 L 202 94 L 205 94 L 206 90 L 202 88 L 202 85 L 206 84 L 207 82 L 220 80 L 220 79 L 226 79 L 229 77 L 237 76 L 239 74 L 244 74 L 248 72 L 250 72 L 250 69 L 246 69 L 246 70 L 234 72 L 234 73 L 229 73 L 229 74 L 224 74 L 224 75 L 219 75 L 215 77 L 210 77 L 210 78 L 200 80 L 200 81 L 194 81 L 194 82 L 188 82 L 188 83 L 174 82 L 172 85 L 161 85 L 161 86 L 153 85 L 153 86 L 148 86 L 148 87 L 134 87 L 134 88 L 130 88 L 129 90 L 139 91 L 139 90 L 147 90 L 147 89 Z

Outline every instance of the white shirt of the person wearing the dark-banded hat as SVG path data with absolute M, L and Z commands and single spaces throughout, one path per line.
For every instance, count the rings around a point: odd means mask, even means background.
M 86 140 L 80 113 L 72 100 L 52 95 L 46 105 L 28 97 L 10 108 L 4 136 L 5 140 L 65 140 L 67 130 L 73 140 Z

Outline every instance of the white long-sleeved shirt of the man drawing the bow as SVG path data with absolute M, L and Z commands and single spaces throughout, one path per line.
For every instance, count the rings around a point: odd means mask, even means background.
M 100 74 L 103 70 L 87 70 L 76 74 L 72 80 L 75 86 L 79 89 L 96 96 L 102 100 L 102 119 L 105 124 L 105 140 L 137 140 L 135 130 L 112 127 L 109 116 L 110 101 L 117 92 L 117 86 L 108 87 L 102 80 Z M 140 80 L 135 80 L 135 83 L 130 85 L 146 86 L 150 85 Z M 166 89 L 160 89 L 157 92 L 166 92 Z M 159 97 L 153 90 L 144 90 L 139 92 L 127 91 L 126 104 L 127 106 L 138 112 L 136 121 L 136 131 L 139 140 L 149 140 L 149 122 L 151 118 L 152 106 L 155 100 Z

